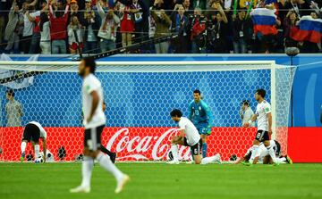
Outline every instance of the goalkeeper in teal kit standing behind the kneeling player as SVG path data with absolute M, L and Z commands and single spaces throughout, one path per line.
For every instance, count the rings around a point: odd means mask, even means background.
M 201 100 L 199 90 L 193 91 L 193 101 L 189 104 L 189 119 L 198 129 L 202 139 L 202 157 L 207 157 L 207 136 L 211 134 L 213 116 L 208 104 Z

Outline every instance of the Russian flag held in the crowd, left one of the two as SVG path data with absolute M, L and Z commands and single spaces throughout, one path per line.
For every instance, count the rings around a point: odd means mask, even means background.
M 251 19 L 254 23 L 254 32 L 260 32 L 263 35 L 276 35 L 277 29 L 275 10 L 267 8 L 256 8 L 250 12 Z

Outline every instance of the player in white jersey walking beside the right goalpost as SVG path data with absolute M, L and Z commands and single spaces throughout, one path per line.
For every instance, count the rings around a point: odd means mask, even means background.
M 265 100 L 266 91 L 264 89 L 258 89 L 255 93 L 255 99 L 258 101 L 258 105 L 256 107 L 255 114 L 251 117 L 251 119 L 244 124 L 244 127 L 249 127 L 250 124 L 258 120 L 258 132 L 253 142 L 253 153 L 250 157 L 250 164 L 256 164 L 257 161 L 255 157 L 258 156 L 259 153 L 259 144 L 261 142 L 267 148 L 269 155 L 272 157 L 275 165 L 278 165 L 278 162 L 275 157 L 274 149 L 272 145 L 270 145 L 269 137 L 272 135 L 272 112 L 270 104 Z M 255 160 L 255 161 L 254 161 Z M 250 165 L 249 164 L 249 165 Z

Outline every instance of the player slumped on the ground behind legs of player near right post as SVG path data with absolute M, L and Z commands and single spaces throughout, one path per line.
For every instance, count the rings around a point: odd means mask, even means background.
M 275 140 L 270 140 L 270 145 L 272 145 L 274 152 L 275 152 L 275 156 L 276 156 L 276 161 L 278 163 L 289 163 L 292 164 L 292 160 L 290 158 L 290 156 L 288 155 L 281 155 L 281 145 L 275 141 Z M 247 153 L 238 161 L 235 162 L 235 164 L 247 164 L 247 162 L 251 162 L 251 157 L 254 156 L 253 155 L 253 147 L 250 147 L 249 150 L 247 150 Z M 261 143 L 258 147 L 258 153 L 255 155 L 254 157 L 255 160 L 258 163 L 263 163 L 263 164 L 273 164 L 273 160 L 270 157 L 267 148 L 265 147 L 265 145 L 263 143 Z

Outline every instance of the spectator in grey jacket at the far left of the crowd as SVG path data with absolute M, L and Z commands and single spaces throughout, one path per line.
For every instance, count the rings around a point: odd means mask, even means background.
M 19 12 L 19 6 L 16 0 L 13 0 L 13 5 L 8 14 L 9 21 L 4 32 L 4 40 L 8 42 L 5 51 L 8 53 L 13 50 L 13 53 L 19 52 L 19 31 L 23 27 L 23 15 Z

